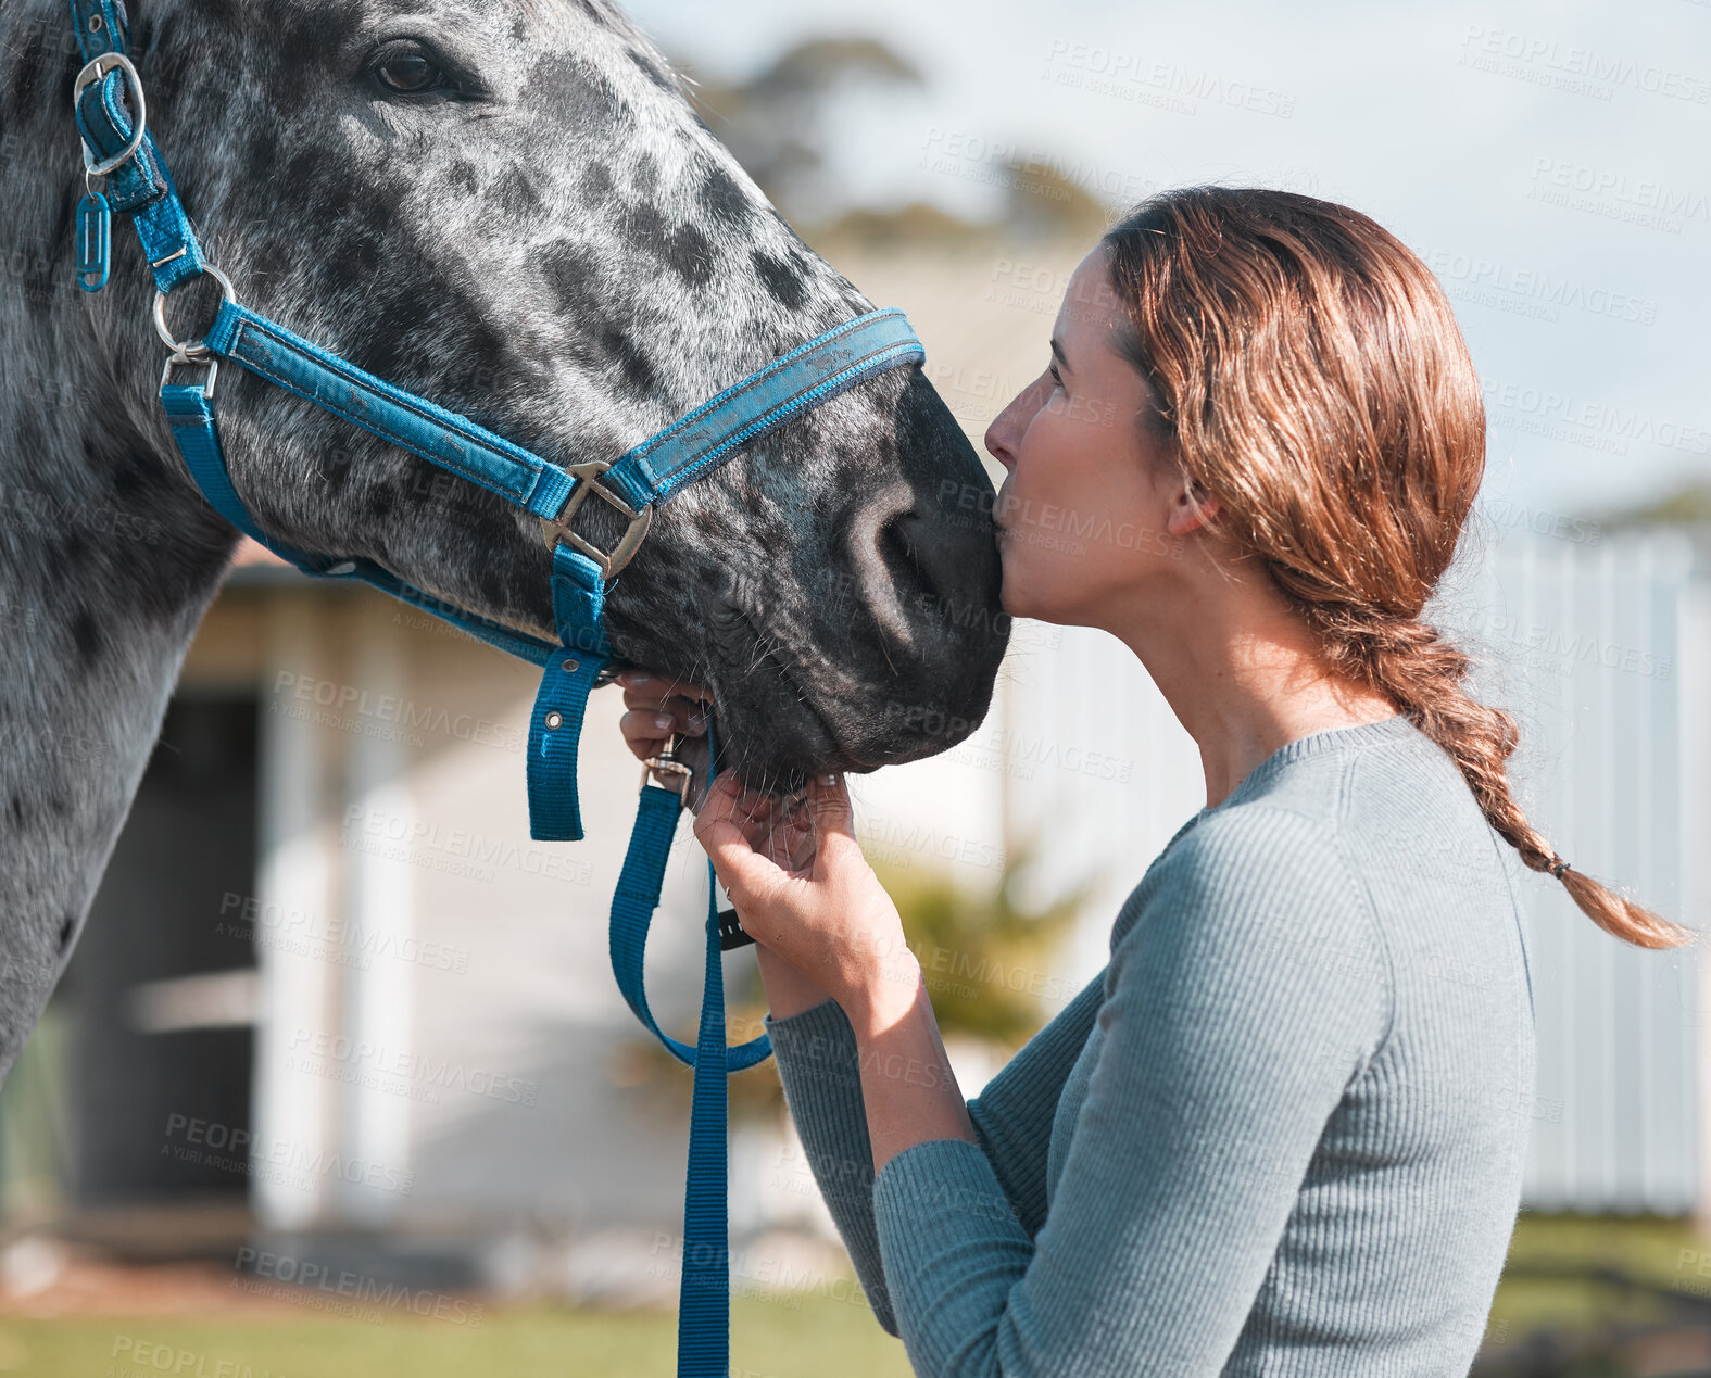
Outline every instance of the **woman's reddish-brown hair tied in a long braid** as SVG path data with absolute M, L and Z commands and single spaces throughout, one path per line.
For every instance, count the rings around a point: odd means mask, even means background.
M 1567 867 L 1509 795 L 1516 721 L 1463 689 L 1422 621 L 1485 468 L 1485 405 L 1437 279 L 1389 231 L 1290 191 L 1191 186 L 1102 241 L 1153 386 L 1217 528 L 1270 571 L 1329 670 L 1377 689 L 1461 768 L 1490 826 L 1639 947 L 1694 932 Z

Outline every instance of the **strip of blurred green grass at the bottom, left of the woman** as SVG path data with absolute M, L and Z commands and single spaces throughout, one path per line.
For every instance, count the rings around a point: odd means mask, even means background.
M 900 1340 L 866 1306 L 732 1298 L 731 1378 L 909 1378 Z M 419 1318 L 0 1322 L 0 1373 L 29 1378 L 669 1378 L 678 1323 L 662 1311 L 489 1310 L 481 1325 Z

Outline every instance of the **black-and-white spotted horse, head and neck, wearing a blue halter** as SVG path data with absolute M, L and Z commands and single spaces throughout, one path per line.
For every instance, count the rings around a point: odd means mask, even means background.
M 149 128 L 246 304 L 573 465 L 873 303 L 813 253 L 607 0 L 132 0 Z M 80 292 L 63 0 L 0 14 L 0 1075 L 84 923 L 236 547 L 154 397 L 133 236 Z M 183 335 L 212 284 L 171 299 Z M 553 639 L 541 523 L 243 369 L 231 482 L 274 540 Z M 992 486 L 917 366 L 659 509 L 606 598 L 623 663 L 705 686 L 755 788 L 944 751 L 991 704 Z M 587 504 L 611 542 L 623 518 Z M 837 597 L 826 597 L 835 590 Z

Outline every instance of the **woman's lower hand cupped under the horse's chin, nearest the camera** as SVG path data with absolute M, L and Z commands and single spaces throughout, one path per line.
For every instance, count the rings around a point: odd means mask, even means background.
M 695 836 L 756 945 L 837 1000 L 857 1034 L 914 1005 L 921 966 L 856 841 L 840 774 L 784 798 L 744 790 L 725 771 Z

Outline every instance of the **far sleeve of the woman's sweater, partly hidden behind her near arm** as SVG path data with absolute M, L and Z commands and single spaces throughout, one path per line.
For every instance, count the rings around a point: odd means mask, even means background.
M 1045 1149 L 1063 1084 L 1086 1043 L 1104 973 L 1090 981 L 968 1101 L 980 1149 L 1032 1229 L 1045 1221 Z M 820 1195 L 844 1238 L 862 1293 L 886 1334 L 897 1320 L 873 1219 L 873 1145 L 862 1106 L 856 1034 L 835 1000 L 765 1019 L 784 1099 Z

